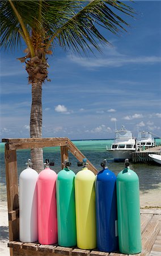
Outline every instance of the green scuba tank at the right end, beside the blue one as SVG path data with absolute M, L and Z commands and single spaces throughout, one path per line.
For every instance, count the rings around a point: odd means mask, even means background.
M 119 250 L 125 254 L 140 253 L 139 179 L 138 175 L 130 170 L 129 159 L 125 159 L 125 169 L 117 175 L 116 190 Z

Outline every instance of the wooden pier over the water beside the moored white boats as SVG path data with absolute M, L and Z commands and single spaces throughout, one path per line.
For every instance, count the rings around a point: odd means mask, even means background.
M 132 153 L 132 162 L 139 163 L 139 162 L 151 162 L 155 163 L 152 158 L 149 157 L 149 154 L 156 154 L 161 155 L 161 147 L 151 147 L 147 148 L 143 151 L 136 151 Z

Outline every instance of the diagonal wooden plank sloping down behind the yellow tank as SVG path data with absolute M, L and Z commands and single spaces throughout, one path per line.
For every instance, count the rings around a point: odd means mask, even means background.
M 73 144 L 73 142 L 70 141 L 70 139 L 67 139 L 67 147 L 69 148 L 71 154 L 73 154 L 75 156 L 75 158 L 78 159 L 78 161 L 82 162 L 83 158 L 86 158 L 86 156 L 84 156 L 82 154 L 82 152 Z M 87 159 L 88 162 L 88 169 L 91 170 L 92 172 L 94 172 L 94 174 L 98 174 L 98 170 L 93 166 L 93 164 L 91 164 L 91 162 Z

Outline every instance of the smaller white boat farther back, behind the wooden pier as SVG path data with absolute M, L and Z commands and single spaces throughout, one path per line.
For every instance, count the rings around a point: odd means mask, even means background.
M 145 148 L 155 146 L 155 140 L 152 138 L 152 135 L 149 133 L 149 131 L 141 131 L 138 133 L 137 146 Z

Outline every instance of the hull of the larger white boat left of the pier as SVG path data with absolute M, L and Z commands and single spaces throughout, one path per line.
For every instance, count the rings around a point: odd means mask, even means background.
M 124 162 L 126 158 L 132 159 L 132 153 L 135 150 L 109 150 L 113 155 L 113 160 L 115 162 Z

